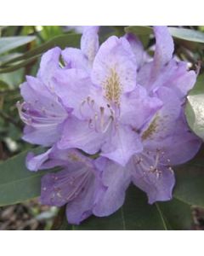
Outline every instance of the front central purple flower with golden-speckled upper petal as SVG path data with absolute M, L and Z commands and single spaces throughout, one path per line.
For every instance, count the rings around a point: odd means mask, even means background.
M 89 40 L 92 44 L 85 44 L 88 40 L 84 36 L 82 49 L 94 56 L 95 32 L 89 36 L 94 37 Z M 88 45 L 94 45 L 94 50 L 88 49 Z M 54 92 L 66 108 L 72 109 L 63 125 L 58 147 L 80 148 L 88 154 L 100 151 L 101 155 L 125 166 L 133 154 L 143 150 L 136 131 L 161 108 L 161 101 L 148 96 L 136 84 L 136 58 L 126 38 L 107 39 L 91 68 L 88 63 L 92 58 L 83 52 L 65 49 L 62 57 L 67 66 L 56 69 L 53 76 Z M 50 60 L 50 55 L 52 52 L 44 58 Z M 59 56 L 52 61 L 58 62 Z M 50 61 L 47 63 L 49 67 Z

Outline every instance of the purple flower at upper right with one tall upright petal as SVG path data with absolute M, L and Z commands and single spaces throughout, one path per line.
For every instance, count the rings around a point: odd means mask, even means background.
M 196 80 L 194 71 L 188 70 L 188 63 L 173 59 L 173 38 L 167 26 L 155 26 L 156 50 L 152 61 L 148 59 L 140 67 L 137 81 L 149 93 L 156 92 L 161 86 L 174 90 L 179 99 L 184 101 Z

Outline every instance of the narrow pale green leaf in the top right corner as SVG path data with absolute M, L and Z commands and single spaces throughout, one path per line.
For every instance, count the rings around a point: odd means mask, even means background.
M 204 43 L 204 33 L 188 28 L 168 27 L 173 38 L 178 38 L 195 43 Z

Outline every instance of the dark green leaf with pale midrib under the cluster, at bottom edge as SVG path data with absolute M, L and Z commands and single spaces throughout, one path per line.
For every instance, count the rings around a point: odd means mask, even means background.
M 131 186 L 121 209 L 109 217 L 90 217 L 80 225 L 67 223 L 65 212 L 54 230 L 167 230 L 161 212 L 156 205 L 150 206 L 141 190 Z

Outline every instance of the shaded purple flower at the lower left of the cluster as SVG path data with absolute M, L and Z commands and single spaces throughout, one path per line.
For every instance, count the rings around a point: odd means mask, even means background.
M 80 224 L 94 212 L 100 193 L 100 183 L 94 160 L 75 149 L 50 148 L 46 153 L 29 154 L 27 166 L 31 171 L 60 166 L 61 171 L 42 177 L 40 201 L 44 205 L 66 205 L 66 216 L 71 224 Z

